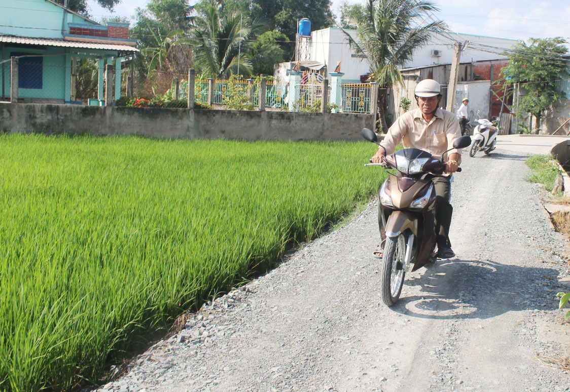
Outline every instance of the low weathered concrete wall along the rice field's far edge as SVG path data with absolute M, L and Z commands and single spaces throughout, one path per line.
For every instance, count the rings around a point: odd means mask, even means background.
M 0 129 L 9 132 L 141 135 L 154 138 L 257 140 L 362 139 L 374 116 L 345 113 L 236 112 L 0 103 Z

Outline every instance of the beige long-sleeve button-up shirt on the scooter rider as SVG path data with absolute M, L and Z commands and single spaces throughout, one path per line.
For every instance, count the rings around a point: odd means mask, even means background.
M 443 152 L 453 148 L 453 142 L 459 137 L 461 128 L 455 114 L 437 109 L 428 123 L 418 108 L 398 117 L 380 144 L 385 148 L 386 154 L 392 154 L 401 142 L 404 148 L 420 148 L 436 158 L 441 158 Z M 454 148 L 447 154 L 453 152 L 459 154 L 458 164 L 461 163 L 461 150 Z

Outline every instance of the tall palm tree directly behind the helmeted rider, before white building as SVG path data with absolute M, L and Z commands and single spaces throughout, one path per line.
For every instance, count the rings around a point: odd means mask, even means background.
M 370 79 L 383 88 L 377 107 L 384 131 L 388 130 L 384 118 L 386 89 L 396 83 L 404 86 L 398 66 L 412 59 L 414 51 L 426 44 L 431 34 L 447 31 L 442 20 L 425 21 L 430 11 L 438 9 L 427 0 L 368 0 L 361 14 L 352 15 L 358 42 L 344 31 L 355 54 L 367 58 Z

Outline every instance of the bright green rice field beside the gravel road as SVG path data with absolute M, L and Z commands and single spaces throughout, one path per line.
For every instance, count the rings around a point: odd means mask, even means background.
M 0 390 L 96 383 L 368 200 L 385 177 L 363 167 L 375 151 L 0 135 Z

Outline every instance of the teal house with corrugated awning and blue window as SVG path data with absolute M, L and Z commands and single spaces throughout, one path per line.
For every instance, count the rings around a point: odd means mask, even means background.
M 115 67 L 109 88 L 118 99 L 123 62 L 138 51 L 135 45 L 129 39 L 128 23 L 103 26 L 52 0 L 1 0 L 0 99 L 10 100 L 13 57 L 18 102 L 87 104 L 87 98 L 95 98 L 89 103 L 98 104 L 97 99 L 104 99 L 106 64 Z M 78 64 L 87 62 L 82 59 L 90 59 L 91 72 L 81 68 L 82 75 L 90 76 L 78 79 Z M 85 91 L 86 80 L 95 96 L 77 96 Z

